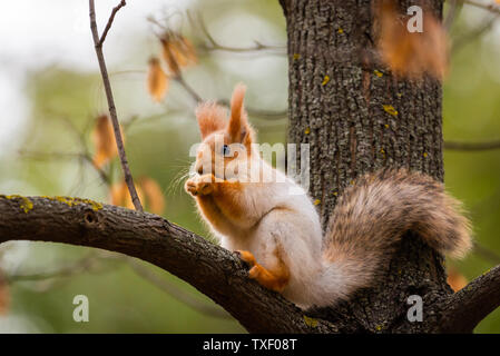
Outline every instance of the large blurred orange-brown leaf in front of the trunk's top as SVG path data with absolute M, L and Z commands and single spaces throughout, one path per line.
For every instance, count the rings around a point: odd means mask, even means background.
M 423 31 L 410 32 L 410 17 L 400 17 L 393 1 L 383 1 L 379 9 L 382 60 L 395 76 L 420 78 L 429 73 L 443 79 L 448 71 L 448 39 L 440 21 L 423 9 Z

